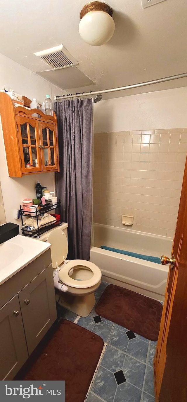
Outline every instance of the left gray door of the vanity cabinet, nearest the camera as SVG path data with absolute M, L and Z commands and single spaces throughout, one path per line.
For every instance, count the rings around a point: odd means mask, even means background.
M 13 379 L 28 359 L 18 295 L 0 309 L 0 380 Z

